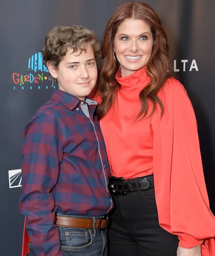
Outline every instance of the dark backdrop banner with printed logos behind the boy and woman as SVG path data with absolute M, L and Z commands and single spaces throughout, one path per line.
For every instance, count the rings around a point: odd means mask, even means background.
M 0 2 L 0 254 L 21 255 L 24 216 L 21 196 L 22 129 L 51 98 L 57 85 L 48 76 L 40 49 L 56 25 L 93 29 L 102 41 L 106 24 L 123 0 L 1 0 Z M 168 36 L 174 71 L 196 113 L 200 148 L 215 214 L 215 2 L 145 0 Z

